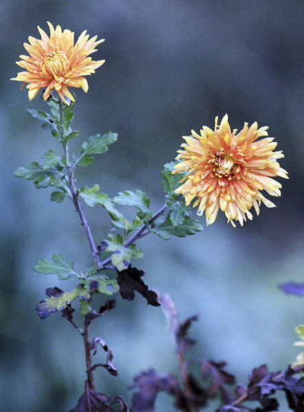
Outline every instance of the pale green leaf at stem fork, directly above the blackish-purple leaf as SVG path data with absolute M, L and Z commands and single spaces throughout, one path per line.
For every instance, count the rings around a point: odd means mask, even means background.
M 107 247 L 104 249 L 107 252 L 112 252 L 111 262 L 118 271 L 123 271 L 128 268 L 131 260 L 140 259 L 143 257 L 141 249 L 131 244 L 129 247 L 124 247 L 121 236 L 108 235 L 106 240 Z

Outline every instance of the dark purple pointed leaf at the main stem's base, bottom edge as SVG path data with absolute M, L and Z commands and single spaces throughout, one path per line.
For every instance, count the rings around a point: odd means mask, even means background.
M 93 391 L 86 381 L 84 394 L 78 400 L 77 406 L 69 412 L 113 412 L 113 409 L 105 404 L 109 400 L 110 398 L 103 393 Z

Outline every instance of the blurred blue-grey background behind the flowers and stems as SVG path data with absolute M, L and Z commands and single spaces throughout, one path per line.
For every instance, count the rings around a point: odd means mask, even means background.
M 35 310 L 45 288 L 69 290 L 74 283 L 32 267 L 56 252 L 78 270 L 93 263 L 69 201 L 51 203 L 49 190 L 13 176 L 47 149 L 60 150 L 27 112 L 47 108 L 42 93 L 29 102 L 21 83 L 10 82 L 22 70 L 15 61 L 26 54 L 23 42 L 39 38 L 36 25 L 49 33 L 47 21 L 75 38 L 83 30 L 106 38 L 93 55 L 106 63 L 88 78 L 89 93 L 74 89 L 74 126 L 82 139 L 109 130 L 119 139 L 78 171 L 79 186 L 98 183 L 110 196 L 139 188 L 156 211 L 164 201 L 161 169 L 176 157 L 183 135 L 212 128 L 225 113 L 233 128 L 269 126 L 290 174 L 278 179 L 282 196 L 270 199 L 276 209 L 261 205 L 259 217 L 235 229 L 222 214 L 210 227 L 200 218 L 204 230 L 195 236 L 165 242 L 150 235 L 138 244 L 145 255 L 137 266 L 149 287 L 168 293 L 181 319 L 198 314 L 189 356 L 225 360 L 246 385 L 253 367 L 285 369 L 301 351 L 292 343 L 294 326 L 304 323 L 304 298 L 283 295 L 278 285 L 304 282 L 303 15 L 302 0 L 0 1 L 1 412 L 75 407 L 86 378 L 81 336 L 60 314 L 41 321 Z M 100 242 L 106 214 L 84 211 Z M 177 374 L 178 366 L 161 308 L 139 295 L 132 302 L 115 298 L 117 308 L 92 332 L 108 343 L 119 374 L 97 369 L 96 384 L 130 402 L 133 376 L 150 367 Z M 105 356 L 100 349 L 96 362 Z M 157 407 L 174 411 L 165 395 Z

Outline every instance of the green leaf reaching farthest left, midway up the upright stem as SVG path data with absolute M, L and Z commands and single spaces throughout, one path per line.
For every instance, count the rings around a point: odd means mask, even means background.
M 33 180 L 37 188 L 47 187 L 49 185 L 56 186 L 65 177 L 59 170 L 43 169 L 43 166 L 36 161 L 25 165 L 24 168 L 18 168 L 16 172 L 14 172 L 14 176 Z

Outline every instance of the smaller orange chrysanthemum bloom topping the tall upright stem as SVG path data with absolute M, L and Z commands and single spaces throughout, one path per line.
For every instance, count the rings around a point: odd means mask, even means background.
M 84 30 L 74 45 L 74 33 L 71 30 L 62 32 L 60 25 L 54 30 L 51 23 L 47 24 L 49 36 L 38 26 L 41 40 L 30 36 L 30 44 L 24 43 L 30 56 L 21 55 L 22 60 L 16 64 L 27 71 L 21 71 L 11 80 L 23 82 L 21 89 L 25 83 L 29 83 L 27 89 L 30 100 L 36 98 L 40 89 L 45 88 L 43 98 L 47 100 L 55 89 L 63 102 L 69 105 L 67 98 L 72 102 L 75 99 L 68 87 L 82 87 L 87 92 L 89 84 L 84 76 L 95 73 L 95 69 L 104 64 L 105 60 L 93 61 L 88 57 L 97 51 L 95 47 L 104 39 L 96 41 L 97 36 L 94 36 L 89 40 L 89 34 Z

